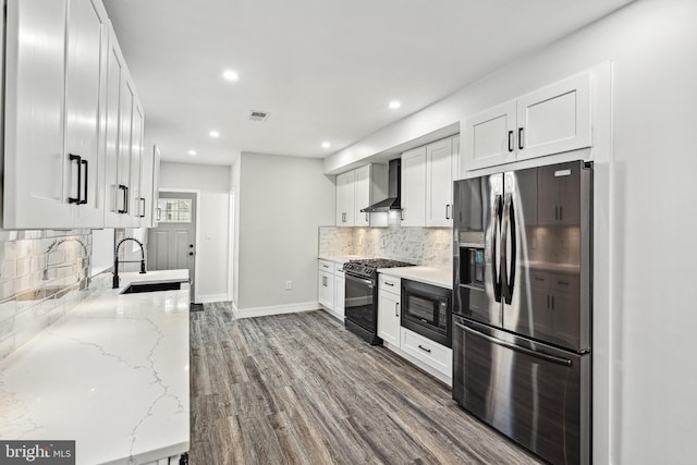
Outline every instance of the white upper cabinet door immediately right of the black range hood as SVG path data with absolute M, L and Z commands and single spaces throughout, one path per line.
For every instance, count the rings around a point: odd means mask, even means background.
M 423 227 L 426 218 L 426 147 L 402 154 L 402 225 Z

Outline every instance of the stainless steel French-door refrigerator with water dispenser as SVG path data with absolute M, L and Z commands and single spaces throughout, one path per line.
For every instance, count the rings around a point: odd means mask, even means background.
M 590 463 L 592 167 L 454 184 L 453 399 L 554 464 Z

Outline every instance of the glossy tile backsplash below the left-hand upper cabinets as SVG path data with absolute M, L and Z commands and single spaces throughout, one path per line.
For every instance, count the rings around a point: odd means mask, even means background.
M 0 230 L 0 359 L 90 294 L 90 260 L 89 230 Z

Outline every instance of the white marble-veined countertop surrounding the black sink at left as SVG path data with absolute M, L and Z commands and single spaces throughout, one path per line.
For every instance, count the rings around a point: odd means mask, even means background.
M 189 449 L 188 284 L 120 295 L 121 273 L 0 362 L 0 438 L 75 440 L 77 464 L 147 463 Z

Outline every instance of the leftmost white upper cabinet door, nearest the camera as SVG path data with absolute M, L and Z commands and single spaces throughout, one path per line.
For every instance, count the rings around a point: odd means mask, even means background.
M 64 152 L 65 0 L 9 0 L 5 37 L 5 229 L 72 228 Z M 63 19 L 63 21 L 61 21 Z

